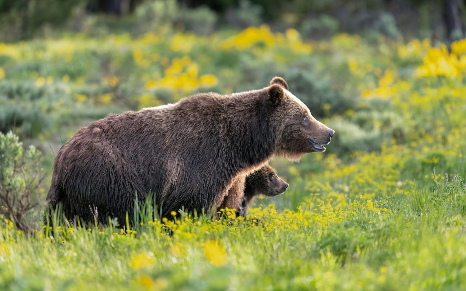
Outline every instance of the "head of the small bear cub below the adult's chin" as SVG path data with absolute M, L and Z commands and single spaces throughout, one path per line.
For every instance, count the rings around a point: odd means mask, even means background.
M 263 166 L 247 176 L 245 185 L 246 187 L 253 187 L 255 194 L 269 197 L 282 194 L 289 186 L 287 182 L 277 176 L 274 169 L 269 165 Z

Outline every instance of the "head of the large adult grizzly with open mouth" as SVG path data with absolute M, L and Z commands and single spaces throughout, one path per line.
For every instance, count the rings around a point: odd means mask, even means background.
M 277 131 L 276 154 L 300 159 L 308 152 L 325 152 L 334 130 L 314 117 L 308 107 L 288 91 L 281 77 L 274 77 L 265 88 L 271 101 L 271 120 Z

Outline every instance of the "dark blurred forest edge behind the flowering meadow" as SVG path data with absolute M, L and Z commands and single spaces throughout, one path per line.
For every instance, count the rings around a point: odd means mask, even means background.
M 138 35 L 171 23 L 197 34 L 264 22 L 296 28 L 304 37 L 377 31 L 389 37 L 459 39 L 463 0 L 20 0 L 0 1 L 1 39 L 56 36 L 63 30 Z M 160 5 L 155 7 L 154 5 Z M 164 13 L 162 13 L 164 11 Z M 104 17 L 103 14 L 106 16 Z

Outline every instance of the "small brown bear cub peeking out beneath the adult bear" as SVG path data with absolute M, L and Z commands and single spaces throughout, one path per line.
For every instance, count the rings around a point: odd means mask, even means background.
M 236 216 L 246 217 L 249 205 L 254 197 L 265 195 L 273 197 L 285 192 L 288 183 L 277 176 L 274 169 L 268 164 L 246 177 L 244 183 L 244 195 L 241 204 L 236 211 Z

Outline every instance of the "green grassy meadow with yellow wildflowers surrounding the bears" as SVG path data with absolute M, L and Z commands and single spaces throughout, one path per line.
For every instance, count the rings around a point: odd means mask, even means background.
M 47 236 L 41 207 L 29 236 L 2 216 L 0 289 L 466 289 L 466 40 L 308 40 L 262 25 L 0 43 L 0 129 L 42 152 L 43 203 L 54 154 L 79 127 L 274 76 L 336 131 L 324 153 L 272 161 L 285 194 L 260 197 L 246 219 L 141 211 L 133 229 L 63 223 Z

